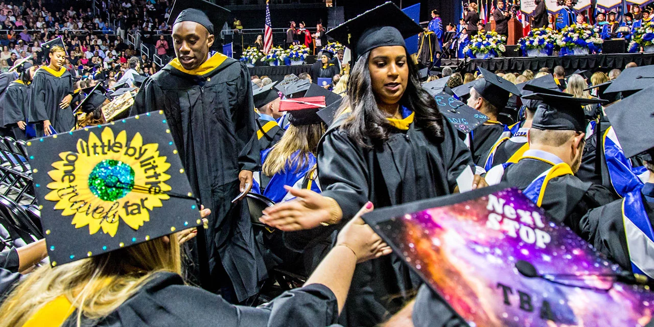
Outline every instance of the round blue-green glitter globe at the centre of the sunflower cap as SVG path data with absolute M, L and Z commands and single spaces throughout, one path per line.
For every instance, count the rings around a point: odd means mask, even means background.
M 91 171 L 88 187 L 98 198 L 116 201 L 128 195 L 134 187 L 134 169 L 118 160 L 102 160 Z

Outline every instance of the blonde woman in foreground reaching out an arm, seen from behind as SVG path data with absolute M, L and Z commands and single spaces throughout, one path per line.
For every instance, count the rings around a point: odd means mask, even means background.
M 197 231 L 161 235 L 153 224 L 146 223 L 136 233 L 139 239 L 152 235 L 148 241 L 54 267 L 39 267 L 17 282 L 0 307 L 0 327 L 335 324 L 356 264 L 390 253 L 360 218 L 372 207 L 366 203 L 343 227 L 336 246 L 303 287 L 284 292 L 260 308 L 232 305 L 218 295 L 184 284 L 179 245 Z M 203 209 L 201 216 L 209 213 Z M 86 233 L 60 244 L 51 243 L 46 235 L 50 250 L 55 246 L 86 247 L 98 239 Z M 0 273 L 7 276 L 5 269 L 0 268 Z M 11 278 L 16 283 L 15 275 Z

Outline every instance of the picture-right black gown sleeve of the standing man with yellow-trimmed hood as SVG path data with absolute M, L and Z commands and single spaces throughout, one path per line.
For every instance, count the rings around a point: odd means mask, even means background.
M 248 146 L 249 143 L 256 143 L 256 112 L 254 112 L 254 99 L 252 99 L 252 83 L 250 82 L 250 73 L 244 63 L 241 65 L 241 77 L 239 83 L 238 103 L 232 114 L 232 120 L 235 126 L 235 133 L 241 150 L 239 154 L 239 170 L 258 171 L 260 167 L 260 152 L 252 151 L 254 145 Z M 254 135 L 254 137 L 252 137 Z

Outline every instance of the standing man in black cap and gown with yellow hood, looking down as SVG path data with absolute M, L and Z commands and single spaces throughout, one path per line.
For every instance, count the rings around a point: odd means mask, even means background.
M 215 213 L 197 244 L 205 241 L 209 256 L 211 277 L 202 286 L 241 303 L 257 294 L 266 271 L 241 201 L 260 169 L 257 151 L 239 157 L 256 133 L 250 74 L 245 64 L 209 51 L 228 12 L 208 1 L 175 1 L 169 25 L 176 58 L 143 83 L 130 114 L 165 112 L 193 194 Z

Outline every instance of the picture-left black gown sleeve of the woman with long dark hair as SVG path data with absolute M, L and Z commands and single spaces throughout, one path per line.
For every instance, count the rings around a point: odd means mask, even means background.
M 318 146 L 318 179 L 322 196 L 335 199 L 343 220 L 352 218 L 370 198 L 364 156 L 345 131 L 332 131 Z

